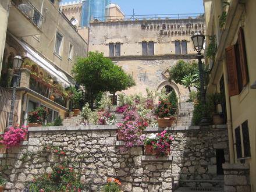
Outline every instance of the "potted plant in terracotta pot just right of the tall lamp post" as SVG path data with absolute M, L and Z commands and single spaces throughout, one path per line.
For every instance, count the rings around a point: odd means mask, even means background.
M 214 125 L 222 125 L 224 123 L 223 113 L 218 112 L 217 106 L 221 104 L 222 95 L 220 93 L 214 93 L 208 95 L 209 107 L 212 112 L 212 123 Z

